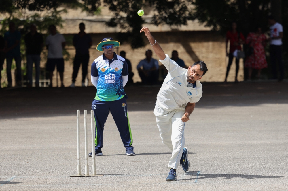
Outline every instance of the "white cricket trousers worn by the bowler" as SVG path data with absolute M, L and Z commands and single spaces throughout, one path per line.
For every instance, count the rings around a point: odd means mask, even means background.
M 173 168 L 177 170 L 183 153 L 185 144 L 185 122 L 182 122 L 181 118 L 184 112 L 184 109 L 176 109 L 168 112 L 161 108 L 157 102 L 153 112 L 156 116 L 162 142 L 172 151 L 172 157 L 168 164 L 170 169 Z

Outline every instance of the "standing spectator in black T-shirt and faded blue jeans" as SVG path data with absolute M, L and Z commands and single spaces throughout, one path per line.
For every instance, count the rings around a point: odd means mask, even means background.
M 25 35 L 26 58 L 27 58 L 27 76 L 29 83 L 27 87 L 32 87 L 33 63 L 35 64 L 35 86 L 39 87 L 40 75 L 40 54 L 43 48 L 43 36 L 36 31 L 36 25 L 30 25 L 30 32 Z

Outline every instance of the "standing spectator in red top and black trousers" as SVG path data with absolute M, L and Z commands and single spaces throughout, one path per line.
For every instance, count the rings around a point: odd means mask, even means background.
M 228 48 L 228 40 L 230 40 L 230 49 L 229 53 L 227 52 Z M 225 81 L 224 83 L 227 82 L 227 77 L 229 74 L 230 67 L 233 62 L 233 52 L 235 50 L 241 50 L 241 44 L 245 41 L 245 38 L 241 32 L 237 31 L 237 24 L 236 22 L 233 22 L 231 25 L 231 30 L 229 30 L 226 34 L 226 55 L 229 57 L 228 61 L 228 66 L 227 66 L 227 71 L 226 71 L 226 76 L 225 76 Z M 238 82 L 237 76 L 238 76 L 238 71 L 239 71 L 239 59 L 236 58 L 236 75 L 235 75 L 235 83 Z

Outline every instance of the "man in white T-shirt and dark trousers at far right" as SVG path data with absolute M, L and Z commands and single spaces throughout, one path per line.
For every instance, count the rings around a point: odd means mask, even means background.
M 277 79 L 277 62 L 280 70 L 279 81 L 284 78 L 284 65 L 282 61 L 282 38 L 283 38 L 283 26 L 276 22 L 274 17 L 268 17 L 268 23 L 270 25 L 270 59 L 272 64 L 273 79 Z

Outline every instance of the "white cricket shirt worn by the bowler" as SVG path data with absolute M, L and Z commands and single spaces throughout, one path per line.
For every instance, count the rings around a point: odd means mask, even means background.
M 166 111 L 184 109 L 187 103 L 196 103 L 202 97 L 202 84 L 196 81 L 196 87 L 188 87 L 188 70 L 180 67 L 166 54 L 164 60 L 159 60 L 169 71 L 162 87 L 157 94 L 157 103 Z

